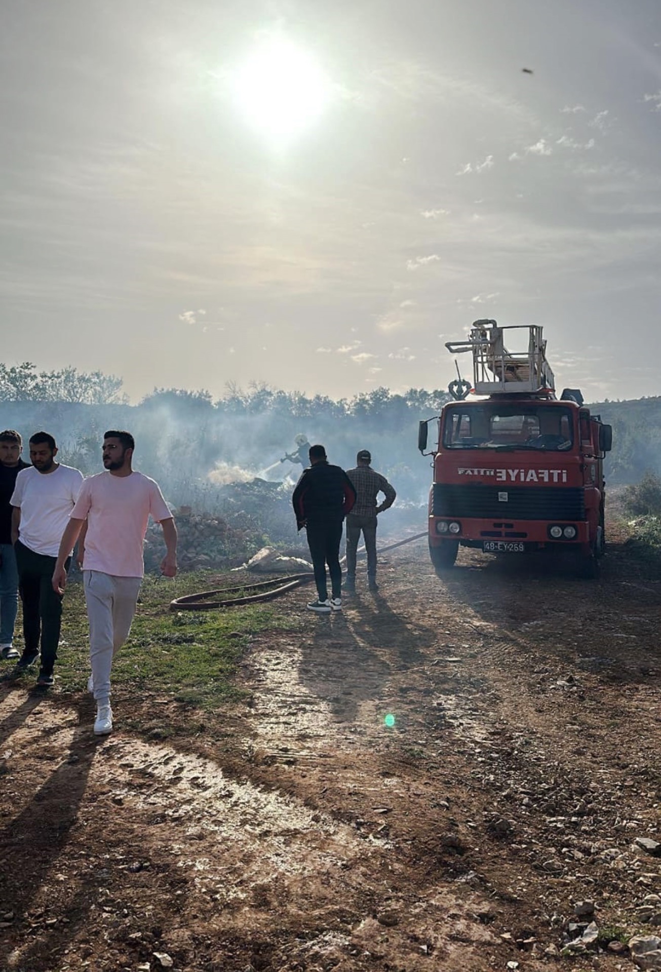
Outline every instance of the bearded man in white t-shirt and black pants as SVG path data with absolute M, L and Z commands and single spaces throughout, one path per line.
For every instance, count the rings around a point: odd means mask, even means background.
M 44 687 L 53 683 L 62 622 L 62 596 L 52 589 L 52 572 L 62 532 L 83 484 L 83 473 L 56 463 L 56 455 L 52 435 L 35 433 L 30 438 L 32 466 L 18 473 L 10 500 L 25 639 L 17 670 L 32 665 L 41 651 L 37 684 Z M 73 543 L 62 561 L 65 572 L 69 570 L 72 549 Z

